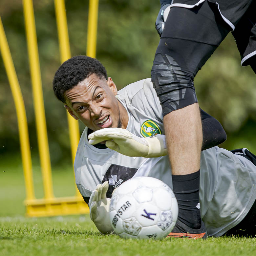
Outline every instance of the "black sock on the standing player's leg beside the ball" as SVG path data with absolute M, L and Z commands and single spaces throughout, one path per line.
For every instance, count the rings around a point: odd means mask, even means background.
M 199 179 L 200 169 L 191 174 L 172 175 L 173 192 L 179 205 L 178 219 L 193 229 L 201 227 Z

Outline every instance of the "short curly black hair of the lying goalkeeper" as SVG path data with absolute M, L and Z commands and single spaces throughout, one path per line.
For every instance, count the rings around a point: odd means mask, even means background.
M 63 62 L 53 78 L 55 96 L 65 103 L 65 91 L 75 87 L 79 82 L 92 74 L 99 78 L 108 78 L 105 67 L 97 60 L 88 56 L 74 56 Z

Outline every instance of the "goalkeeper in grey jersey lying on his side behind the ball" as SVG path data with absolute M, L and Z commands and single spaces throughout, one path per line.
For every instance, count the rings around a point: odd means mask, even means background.
M 75 157 L 75 180 L 101 233 L 113 230 L 108 207 L 113 190 L 122 182 L 136 176 L 151 176 L 173 187 L 176 181 L 166 155 L 162 108 L 151 79 L 117 92 L 99 61 L 75 56 L 55 73 L 53 91 L 70 115 L 86 126 Z M 226 139 L 221 124 L 203 110 L 201 119 L 200 190 L 195 188 L 193 193 L 195 198 L 200 194 L 194 204 L 200 210 L 207 233 L 255 235 L 256 158 L 247 149 L 231 152 L 216 146 Z M 184 180 L 180 192 L 198 179 L 195 176 Z M 186 209 L 183 198 L 177 200 Z M 186 211 L 179 209 L 177 224 L 182 225 L 180 220 L 189 218 Z M 182 228 L 175 228 L 170 236 L 184 235 L 178 232 Z M 196 234 L 187 234 L 185 230 L 184 233 L 186 237 L 207 237 L 204 230 L 203 226 Z

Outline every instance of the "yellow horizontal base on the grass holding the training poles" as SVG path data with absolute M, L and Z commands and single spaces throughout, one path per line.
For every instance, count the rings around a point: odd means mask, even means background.
M 48 217 L 89 213 L 89 207 L 81 196 L 52 199 L 25 200 L 27 217 Z

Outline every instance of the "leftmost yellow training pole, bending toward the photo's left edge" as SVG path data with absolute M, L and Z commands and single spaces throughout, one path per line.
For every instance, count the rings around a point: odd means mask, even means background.
M 11 87 L 11 93 L 13 96 L 17 119 L 19 127 L 19 138 L 20 138 L 20 149 L 21 149 L 21 158 L 23 165 L 23 172 L 25 178 L 25 187 L 26 187 L 26 198 L 27 200 L 32 200 L 34 196 L 34 186 L 32 178 L 32 160 L 29 144 L 29 132 L 26 111 L 24 106 L 23 97 L 21 94 L 18 78 L 15 72 L 13 61 L 11 58 L 11 52 L 8 46 L 7 38 L 4 32 L 4 27 L 0 17 L 0 50 L 3 57 L 4 66 L 8 76 L 8 80 Z

